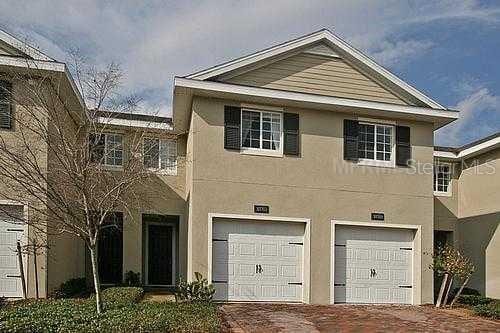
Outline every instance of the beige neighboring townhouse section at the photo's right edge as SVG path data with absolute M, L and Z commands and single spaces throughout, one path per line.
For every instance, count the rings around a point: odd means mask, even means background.
M 500 133 L 434 159 L 435 242 L 458 246 L 476 266 L 468 286 L 500 298 Z

